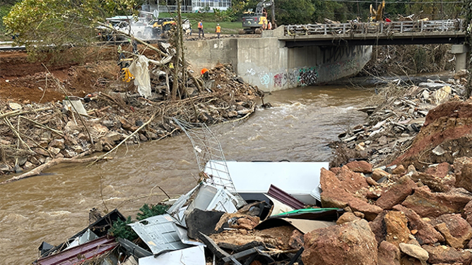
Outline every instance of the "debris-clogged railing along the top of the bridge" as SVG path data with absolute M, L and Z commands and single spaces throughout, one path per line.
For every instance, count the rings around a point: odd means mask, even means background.
M 464 20 L 414 20 L 395 22 L 351 22 L 338 24 L 307 24 L 285 26 L 285 36 L 293 35 L 354 35 L 377 33 L 392 35 L 403 32 L 461 32 Z

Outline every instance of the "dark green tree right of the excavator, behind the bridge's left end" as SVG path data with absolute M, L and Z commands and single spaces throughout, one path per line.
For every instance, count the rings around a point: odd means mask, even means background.
M 278 25 L 306 24 L 312 21 L 314 6 L 309 0 L 276 1 Z

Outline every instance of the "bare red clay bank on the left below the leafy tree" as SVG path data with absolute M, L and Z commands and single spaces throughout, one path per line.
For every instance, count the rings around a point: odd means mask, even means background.
M 114 49 L 92 52 L 82 60 L 85 64 L 81 65 L 74 54 L 66 54 L 62 61 L 54 63 L 51 63 L 51 56 L 48 57 L 42 60 L 45 61 L 43 66 L 41 62 L 28 61 L 28 55 L 23 51 L 1 52 L 0 100 L 27 104 L 39 102 L 40 99 L 41 103 L 64 99 L 64 93 L 47 70 L 64 85 L 68 94 L 78 97 L 100 91 L 107 83 L 119 78 Z

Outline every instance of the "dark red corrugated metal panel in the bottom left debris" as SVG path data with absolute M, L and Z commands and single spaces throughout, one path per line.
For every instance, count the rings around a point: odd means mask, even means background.
M 86 242 L 83 245 L 78 245 L 77 247 L 72 247 L 66 249 L 57 254 L 44 257 L 34 261 L 35 265 L 73 265 L 78 264 L 79 262 L 85 261 L 86 259 L 91 259 L 100 254 L 103 254 L 114 247 L 118 243 L 114 238 L 107 238 L 104 236 L 102 238 L 97 238 L 90 242 Z

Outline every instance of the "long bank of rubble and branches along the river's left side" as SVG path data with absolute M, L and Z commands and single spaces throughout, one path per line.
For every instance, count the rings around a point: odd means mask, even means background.
M 189 85 L 188 97 L 177 101 L 160 97 L 157 87 L 148 99 L 109 87 L 46 104 L 0 101 L 0 175 L 49 167 L 57 161 L 80 163 L 83 156 L 109 152 L 122 142 L 160 140 L 180 132 L 172 118 L 211 125 L 255 111 L 254 100 L 261 92 L 242 82 L 230 65 L 211 69 L 208 79 L 203 91 Z

